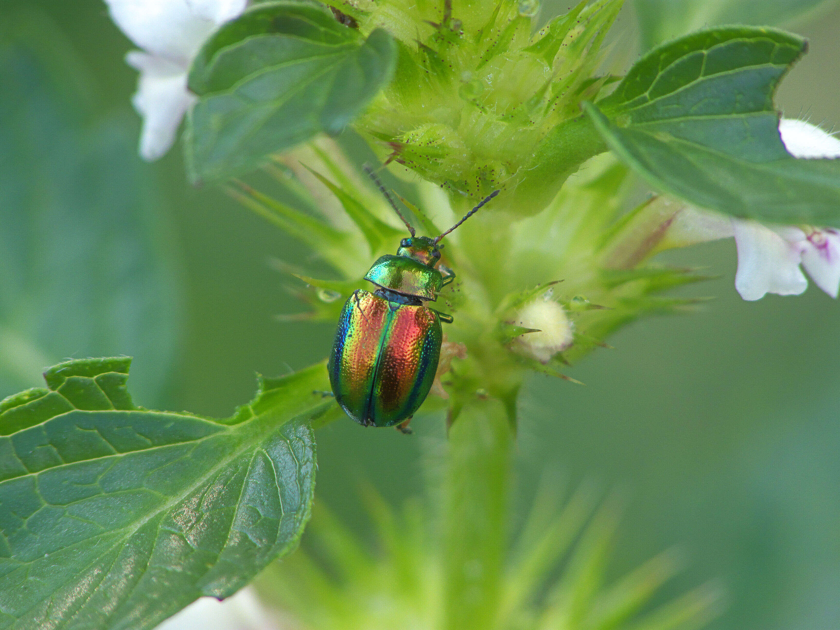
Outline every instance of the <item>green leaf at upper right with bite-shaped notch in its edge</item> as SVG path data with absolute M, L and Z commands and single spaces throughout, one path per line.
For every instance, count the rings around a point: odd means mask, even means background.
M 736 217 L 840 225 L 840 160 L 795 159 L 773 108 L 776 86 L 805 50 L 804 39 L 774 29 L 691 34 L 644 55 L 585 110 L 659 191 Z

